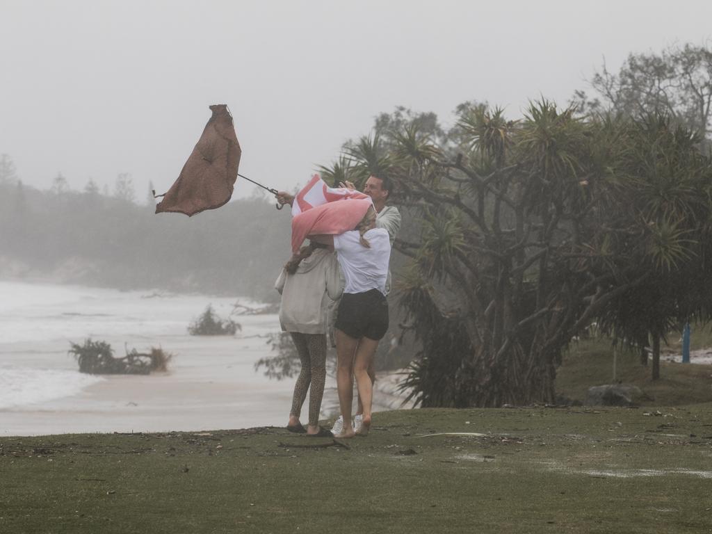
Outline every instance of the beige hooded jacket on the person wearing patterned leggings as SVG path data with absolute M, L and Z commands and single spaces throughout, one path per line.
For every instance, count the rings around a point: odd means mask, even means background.
M 333 252 L 317 248 L 304 258 L 294 274 L 284 269 L 274 284 L 282 295 L 279 322 L 286 332 L 325 334 L 329 310 L 344 288 Z

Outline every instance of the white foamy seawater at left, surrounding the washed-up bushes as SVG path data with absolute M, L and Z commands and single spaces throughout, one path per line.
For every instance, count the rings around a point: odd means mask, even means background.
M 112 345 L 115 355 L 137 348 L 167 343 L 174 347 L 195 342 L 235 344 L 235 340 L 193 340 L 189 323 L 213 306 L 221 317 L 228 316 L 236 298 L 207 295 L 174 295 L 155 291 L 119 291 L 51 283 L 0 281 L 0 409 L 15 409 L 53 399 L 74 397 L 83 388 L 102 380 L 78 372 L 75 360 L 67 355 L 70 342 L 103 340 Z M 256 305 L 241 298 L 241 303 Z M 276 330 L 276 318 L 239 318 L 246 335 Z M 265 327 L 254 323 L 271 320 Z M 272 324 L 274 323 L 274 324 Z M 264 345 L 264 342 L 262 342 Z M 265 346 L 265 352 L 269 348 Z M 211 362 L 194 361 L 192 349 L 179 351 L 177 360 L 184 367 L 195 366 L 206 372 Z M 249 362 L 250 365 L 253 361 Z M 175 368 L 175 363 L 172 366 Z

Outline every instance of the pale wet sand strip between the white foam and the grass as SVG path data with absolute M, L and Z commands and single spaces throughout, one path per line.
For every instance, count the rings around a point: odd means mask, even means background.
M 395 391 L 394 377 L 399 373 L 379 373 L 374 389 L 374 414 L 413 407 L 412 402 L 403 405 L 404 396 Z M 287 424 L 295 381 L 266 379 L 266 383 L 251 386 L 231 379 L 218 381 L 209 371 L 201 379 L 171 372 L 103 377 L 103 381 L 70 397 L 0 409 L 0 436 L 281 428 Z M 302 408 L 303 422 L 308 402 L 307 397 Z M 331 424 L 336 417 L 337 389 L 335 379 L 328 376 L 320 419 Z

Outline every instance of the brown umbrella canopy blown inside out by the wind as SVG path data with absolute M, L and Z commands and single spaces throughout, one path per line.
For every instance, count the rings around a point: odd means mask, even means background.
M 240 164 L 240 144 L 226 104 L 211 105 L 212 117 L 180 176 L 156 205 L 156 213 L 193 216 L 219 208 L 232 196 Z

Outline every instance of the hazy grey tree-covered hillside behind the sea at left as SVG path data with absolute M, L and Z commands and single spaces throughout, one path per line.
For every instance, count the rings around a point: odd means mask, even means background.
M 95 189 L 0 182 L 0 276 L 276 299 L 290 216 L 265 199 L 188 218 Z

